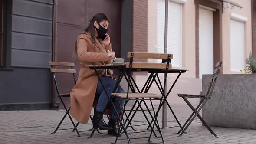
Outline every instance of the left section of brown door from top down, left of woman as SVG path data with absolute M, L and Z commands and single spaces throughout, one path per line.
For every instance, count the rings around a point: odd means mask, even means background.
M 85 0 L 56 0 L 56 61 L 75 62 L 75 69 L 79 72 L 79 61 L 75 58 L 76 37 L 82 32 L 85 25 Z M 60 74 L 59 91 L 72 91 L 74 81 L 72 75 Z M 69 98 L 64 98 L 69 105 Z M 63 108 L 60 105 L 60 108 Z

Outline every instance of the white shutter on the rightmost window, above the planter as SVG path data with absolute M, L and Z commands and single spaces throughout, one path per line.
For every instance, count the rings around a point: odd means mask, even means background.
M 244 69 L 244 23 L 230 20 L 230 70 Z

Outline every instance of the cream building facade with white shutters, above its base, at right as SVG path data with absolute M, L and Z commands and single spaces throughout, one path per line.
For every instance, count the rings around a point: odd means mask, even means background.
M 186 77 L 211 74 L 223 61 L 223 74 L 240 73 L 252 47 L 252 1 L 169 0 L 168 47 L 173 67 L 189 69 Z M 148 1 L 148 52 L 164 52 L 165 0 Z

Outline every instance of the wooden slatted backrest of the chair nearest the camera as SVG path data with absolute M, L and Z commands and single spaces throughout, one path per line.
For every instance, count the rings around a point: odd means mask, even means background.
M 137 69 L 171 69 L 171 59 L 173 59 L 173 54 L 166 53 L 146 53 L 146 52 L 128 52 L 127 57 L 130 58 L 130 62 L 126 63 L 126 67 Z M 150 63 L 150 62 L 133 62 L 134 58 L 140 59 L 162 59 L 164 61 L 168 61 L 167 63 Z M 168 65 L 168 66 L 167 66 Z

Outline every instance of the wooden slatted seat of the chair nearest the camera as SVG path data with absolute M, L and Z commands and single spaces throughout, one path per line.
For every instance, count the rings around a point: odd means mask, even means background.
M 126 98 L 127 93 L 112 93 L 111 95 L 117 96 L 119 98 Z M 128 98 L 161 98 L 162 95 L 157 95 L 153 93 L 129 93 Z

